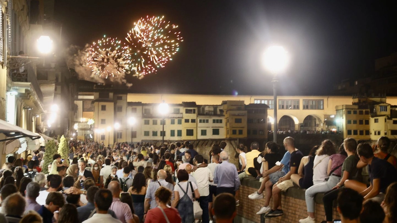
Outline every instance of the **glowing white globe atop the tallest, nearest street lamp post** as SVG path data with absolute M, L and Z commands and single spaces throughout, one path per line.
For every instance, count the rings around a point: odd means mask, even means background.
M 272 73 L 280 73 L 287 67 L 288 56 L 282 46 L 270 46 L 264 54 L 264 65 Z

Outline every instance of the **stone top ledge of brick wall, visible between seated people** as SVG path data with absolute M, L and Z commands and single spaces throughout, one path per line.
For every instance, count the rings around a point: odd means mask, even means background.
M 245 178 L 241 182 L 241 185 L 249 186 L 251 188 L 256 188 L 256 189 L 260 188 L 260 184 L 261 183 L 259 182 L 259 180 L 256 180 L 254 177 Z M 299 187 L 291 187 L 291 188 L 288 188 L 288 190 L 286 192 L 283 192 L 283 195 L 292 197 L 292 198 L 296 198 L 299 200 L 305 200 L 305 197 L 304 197 L 305 190 L 306 189 L 301 189 Z M 314 197 L 314 201 L 317 204 L 323 204 L 323 201 L 322 201 L 323 196 L 324 196 L 324 193 L 316 194 L 316 196 Z

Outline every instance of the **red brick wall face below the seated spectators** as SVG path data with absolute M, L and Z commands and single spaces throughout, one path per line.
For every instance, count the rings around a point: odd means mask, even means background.
M 245 222 L 249 220 L 256 223 L 297 223 L 299 219 L 304 219 L 308 216 L 306 202 L 304 200 L 304 190 L 299 188 L 289 188 L 287 192 L 282 194 L 281 205 L 284 212 L 283 216 L 264 219 L 263 215 L 256 215 L 256 212 L 264 205 L 265 200 L 250 200 L 248 195 L 258 190 L 259 186 L 259 181 L 244 179 L 240 187 L 240 206 L 237 208 L 237 214 L 245 219 Z M 316 222 L 323 221 L 325 217 L 322 196 L 323 194 L 317 194 L 315 198 Z M 270 206 L 272 206 L 272 200 L 270 200 Z M 334 209 L 334 219 L 340 219 L 336 208 Z

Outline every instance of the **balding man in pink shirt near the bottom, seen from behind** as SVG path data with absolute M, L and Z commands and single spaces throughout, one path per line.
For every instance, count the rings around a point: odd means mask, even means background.
M 122 223 L 133 223 L 134 217 L 132 215 L 131 209 L 129 208 L 128 204 L 120 201 L 120 183 L 118 181 L 110 181 L 108 190 L 110 190 L 113 195 L 113 202 L 109 210 L 114 211 L 117 219 L 119 219 Z

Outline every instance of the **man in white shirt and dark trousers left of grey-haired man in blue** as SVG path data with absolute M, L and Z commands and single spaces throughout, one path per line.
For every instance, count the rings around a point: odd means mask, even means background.
M 193 163 L 195 165 L 204 163 L 204 158 L 201 155 L 196 155 L 193 159 Z M 200 207 L 203 210 L 201 218 L 202 223 L 208 223 L 210 221 L 209 212 L 207 211 L 210 198 L 209 183 L 213 181 L 213 176 L 211 170 L 208 167 L 197 168 L 192 175 L 197 181 L 198 192 L 200 193 L 198 202 L 200 203 Z

